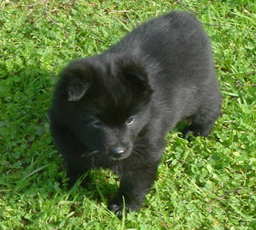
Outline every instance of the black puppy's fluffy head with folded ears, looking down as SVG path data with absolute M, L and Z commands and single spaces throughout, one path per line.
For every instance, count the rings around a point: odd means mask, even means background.
M 62 119 L 88 149 L 87 157 L 118 161 L 133 153 L 150 117 L 152 93 L 138 61 L 100 56 L 74 61 L 63 70 L 57 92 Z

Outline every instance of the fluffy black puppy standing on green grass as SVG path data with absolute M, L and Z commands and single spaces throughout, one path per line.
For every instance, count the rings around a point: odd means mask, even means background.
M 221 101 L 209 38 L 186 12 L 155 18 L 105 53 L 74 61 L 62 71 L 50 109 L 70 186 L 89 169 L 112 169 L 121 184 L 110 210 L 122 216 L 122 197 L 127 210 L 138 210 L 168 130 L 190 118 L 185 137 L 206 137 Z

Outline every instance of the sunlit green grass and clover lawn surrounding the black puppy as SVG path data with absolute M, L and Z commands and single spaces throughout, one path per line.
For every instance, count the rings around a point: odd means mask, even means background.
M 255 4 L 0 2 L 0 229 L 256 229 Z M 190 143 L 170 131 L 144 206 L 118 220 L 106 208 L 118 188 L 110 172 L 92 172 L 88 188 L 61 188 L 67 179 L 47 111 L 70 60 L 98 54 L 139 23 L 174 9 L 190 9 L 212 25 L 205 29 L 222 116 L 209 137 Z

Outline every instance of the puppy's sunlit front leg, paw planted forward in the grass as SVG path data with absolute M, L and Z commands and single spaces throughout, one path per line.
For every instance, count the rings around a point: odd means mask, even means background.
M 137 211 L 142 206 L 146 194 L 150 192 L 157 171 L 158 163 L 154 163 L 141 169 L 122 172 L 118 196 L 110 201 L 108 208 L 117 216 L 122 216 L 124 197 L 126 211 Z

